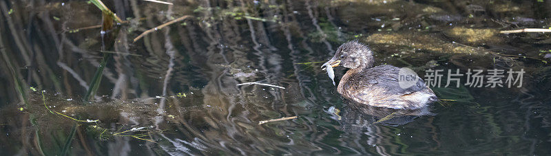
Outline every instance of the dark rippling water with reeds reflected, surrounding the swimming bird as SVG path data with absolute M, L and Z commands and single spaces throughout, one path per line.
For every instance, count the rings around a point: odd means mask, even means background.
M 102 38 L 92 3 L 0 1 L 1 155 L 551 152 L 550 34 L 499 33 L 550 27 L 551 1 L 104 2 L 129 22 Z M 320 65 L 354 39 L 376 65 L 444 69 L 442 101 L 346 107 Z M 444 87 L 447 69 L 526 73 L 521 87 Z

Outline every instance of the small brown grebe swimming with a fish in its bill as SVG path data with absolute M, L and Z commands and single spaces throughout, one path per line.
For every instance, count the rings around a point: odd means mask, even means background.
M 342 76 L 337 92 L 352 101 L 351 107 L 367 104 L 391 109 L 419 109 L 438 99 L 419 76 L 412 87 L 400 87 L 399 68 L 392 65 L 373 67 L 373 52 L 357 41 L 342 44 L 325 65 L 350 68 Z

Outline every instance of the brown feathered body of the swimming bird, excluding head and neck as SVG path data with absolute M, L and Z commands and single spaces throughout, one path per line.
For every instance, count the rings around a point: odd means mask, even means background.
M 417 109 L 437 100 L 419 76 L 412 87 L 400 87 L 399 70 L 392 65 L 351 69 L 342 77 L 337 92 L 360 104 L 392 109 Z

